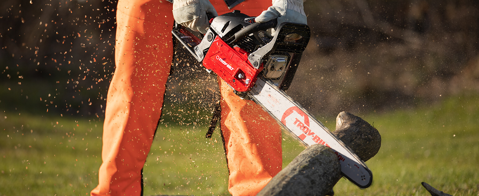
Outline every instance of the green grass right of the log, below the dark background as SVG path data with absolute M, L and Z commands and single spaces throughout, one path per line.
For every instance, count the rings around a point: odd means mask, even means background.
M 479 195 L 479 98 L 448 98 L 441 104 L 364 119 L 378 129 L 381 149 L 366 164 L 373 184 L 360 190 L 347 180 L 337 195 L 412 195 L 429 193 L 426 182 L 456 196 Z

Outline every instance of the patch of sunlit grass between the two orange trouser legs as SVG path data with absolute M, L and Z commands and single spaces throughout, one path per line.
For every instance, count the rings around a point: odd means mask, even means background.
M 227 195 L 228 168 L 218 133 L 161 127 L 143 169 L 145 195 Z

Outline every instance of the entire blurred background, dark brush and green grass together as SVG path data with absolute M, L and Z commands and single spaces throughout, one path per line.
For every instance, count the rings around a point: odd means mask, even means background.
M 367 162 L 376 175 L 372 188 L 342 180 L 337 193 L 423 195 L 419 183 L 426 180 L 453 195 L 478 194 L 479 1 L 304 5 L 312 37 L 287 94 L 331 130 L 336 115 L 348 111 L 383 137 L 380 152 Z M 115 11 L 115 0 L 0 3 L 0 182 L 9 184 L 0 195 L 30 188 L 42 191 L 26 195 L 86 195 L 96 186 L 114 74 Z M 161 122 L 147 161 L 155 169 L 145 167 L 153 174 L 145 175 L 146 193 L 227 194 L 223 151 L 206 147 L 221 140 L 202 140 L 212 109 L 205 97 L 215 91 L 214 77 L 182 60 L 184 53 L 177 48 L 180 60 L 172 66 L 163 112 L 170 117 Z M 171 156 L 184 143 L 203 144 L 180 152 L 189 159 Z M 215 157 L 201 155 L 208 149 Z M 221 166 L 210 166 L 217 177 L 203 172 L 214 159 L 221 160 Z M 184 167 L 194 177 L 175 172 L 183 167 L 175 162 L 189 164 Z M 207 181 L 212 178 L 218 182 Z

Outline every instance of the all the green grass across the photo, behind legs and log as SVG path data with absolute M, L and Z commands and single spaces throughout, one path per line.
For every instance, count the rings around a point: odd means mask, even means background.
M 451 195 L 479 195 L 478 103 L 477 95 L 461 96 L 361 116 L 382 136 L 379 153 L 366 162 L 373 184 L 359 189 L 341 179 L 335 195 L 428 195 L 421 182 Z M 325 123 L 331 130 L 333 117 Z M 160 126 L 144 168 L 145 195 L 228 195 L 222 141 L 217 132 L 204 138 L 205 120 Z M 87 195 L 98 183 L 101 127 L 93 119 L 0 113 L 0 195 Z M 302 148 L 284 138 L 286 164 Z

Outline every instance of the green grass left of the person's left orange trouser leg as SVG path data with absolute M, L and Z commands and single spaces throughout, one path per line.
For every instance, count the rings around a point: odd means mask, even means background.
M 101 123 L 0 113 L 0 195 L 85 195 L 97 182 Z

